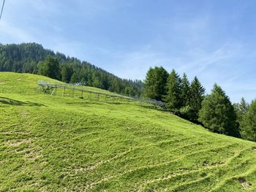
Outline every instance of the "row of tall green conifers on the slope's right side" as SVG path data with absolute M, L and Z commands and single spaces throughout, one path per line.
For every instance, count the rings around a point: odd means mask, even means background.
M 248 104 L 244 98 L 232 104 L 223 89 L 214 84 L 206 95 L 197 77 L 189 82 L 173 69 L 150 68 L 146 74 L 144 96 L 164 101 L 167 109 L 192 122 L 203 124 L 210 131 L 256 141 L 256 100 Z

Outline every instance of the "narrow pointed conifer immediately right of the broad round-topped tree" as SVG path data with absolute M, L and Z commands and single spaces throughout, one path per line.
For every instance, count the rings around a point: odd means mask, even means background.
M 170 110 L 178 111 L 181 108 L 181 78 L 173 69 L 167 78 L 167 96 L 165 101 Z

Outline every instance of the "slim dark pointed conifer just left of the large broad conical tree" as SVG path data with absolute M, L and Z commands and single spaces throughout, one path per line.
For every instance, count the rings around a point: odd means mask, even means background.
M 204 99 L 204 94 L 206 89 L 203 88 L 203 85 L 200 84 L 197 77 L 192 80 L 190 85 L 190 99 L 189 99 L 189 107 L 191 108 L 191 118 L 192 120 L 197 120 L 198 112 L 202 107 L 202 101 Z

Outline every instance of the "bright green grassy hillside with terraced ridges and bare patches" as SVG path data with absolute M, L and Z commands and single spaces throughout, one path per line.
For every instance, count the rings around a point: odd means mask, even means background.
M 255 191 L 255 142 L 0 73 L 0 191 Z M 53 81 L 53 80 L 50 80 Z

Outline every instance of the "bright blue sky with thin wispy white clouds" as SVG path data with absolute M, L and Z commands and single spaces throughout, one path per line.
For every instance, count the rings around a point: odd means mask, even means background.
M 37 42 L 127 79 L 176 69 L 251 101 L 255 20 L 254 0 L 6 0 L 0 43 Z

